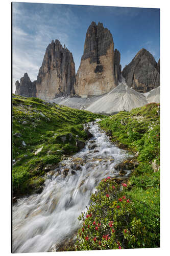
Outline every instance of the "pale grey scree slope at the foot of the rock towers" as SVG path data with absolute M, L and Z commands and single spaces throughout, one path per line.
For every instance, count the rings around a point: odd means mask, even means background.
M 51 101 L 71 108 L 88 110 L 93 113 L 114 114 L 123 110 L 130 111 L 150 102 L 158 103 L 159 97 L 160 87 L 153 89 L 149 93 L 142 94 L 129 88 L 125 82 L 122 82 L 109 93 L 98 97 L 59 97 Z

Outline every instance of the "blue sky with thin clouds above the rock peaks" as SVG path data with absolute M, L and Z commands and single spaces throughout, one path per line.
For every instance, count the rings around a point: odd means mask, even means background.
M 160 57 L 160 11 L 151 8 L 13 3 L 13 92 L 25 72 L 36 80 L 45 49 L 52 39 L 72 52 L 76 72 L 83 54 L 86 31 L 94 21 L 113 36 L 124 68 L 145 48 Z

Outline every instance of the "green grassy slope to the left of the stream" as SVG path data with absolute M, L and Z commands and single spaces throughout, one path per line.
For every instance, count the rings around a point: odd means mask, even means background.
M 18 95 L 12 103 L 13 196 L 21 196 L 40 191 L 45 173 L 78 151 L 76 135 L 87 139 L 83 123 L 101 115 Z

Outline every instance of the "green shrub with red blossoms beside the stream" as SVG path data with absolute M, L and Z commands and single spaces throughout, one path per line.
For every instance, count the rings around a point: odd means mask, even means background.
M 136 217 L 133 202 L 125 196 L 126 186 L 110 177 L 100 182 L 89 209 L 78 218 L 83 225 L 78 230 L 76 250 L 144 247 L 146 230 Z

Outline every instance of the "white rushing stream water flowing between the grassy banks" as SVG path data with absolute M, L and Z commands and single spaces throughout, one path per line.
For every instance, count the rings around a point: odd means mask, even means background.
M 93 138 L 85 148 L 60 163 L 41 194 L 13 205 L 13 252 L 58 250 L 79 228 L 78 216 L 86 211 L 96 185 L 107 176 L 118 176 L 114 166 L 129 155 L 109 141 L 97 122 L 88 125 Z

